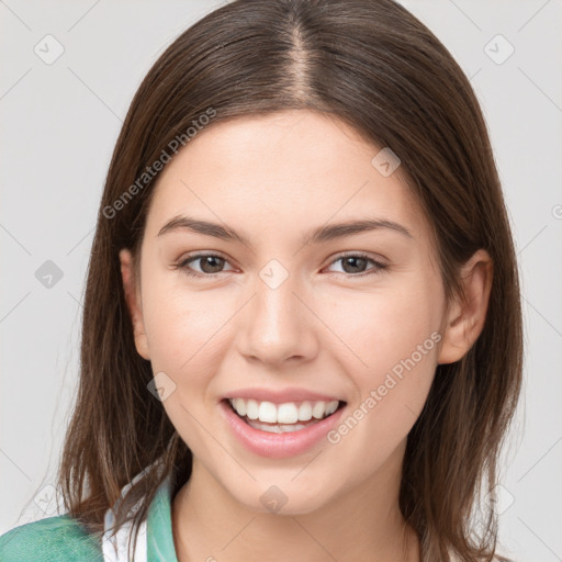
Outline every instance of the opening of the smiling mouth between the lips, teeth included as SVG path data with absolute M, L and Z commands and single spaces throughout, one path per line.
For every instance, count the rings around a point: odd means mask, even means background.
M 223 398 L 222 402 L 246 425 L 269 434 L 302 431 L 336 415 L 347 404 L 341 400 L 301 401 L 283 404 L 258 402 L 251 398 Z

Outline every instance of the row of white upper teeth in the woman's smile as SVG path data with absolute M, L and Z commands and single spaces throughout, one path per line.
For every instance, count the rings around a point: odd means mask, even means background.
M 272 402 L 258 402 L 252 398 L 229 398 L 228 401 L 239 416 L 247 416 L 250 420 L 259 420 L 267 424 L 296 424 L 297 422 L 308 422 L 313 417 L 315 419 L 323 419 L 334 414 L 339 405 L 337 400 L 313 403 L 304 401 L 300 405 L 294 402 L 276 405 Z M 291 430 L 296 429 L 294 425 L 291 427 Z

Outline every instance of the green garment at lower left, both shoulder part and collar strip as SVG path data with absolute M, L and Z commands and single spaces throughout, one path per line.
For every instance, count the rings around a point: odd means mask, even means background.
M 139 539 L 140 540 L 140 539 Z M 99 539 L 68 514 L 29 522 L 0 537 L 1 562 L 104 562 Z M 117 559 L 113 559 L 117 560 Z M 119 561 L 121 562 L 120 558 Z M 135 562 L 144 558 L 135 557 Z M 146 520 L 146 562 L 178 562 L 171 530 L 171 486 L 158 488 Z

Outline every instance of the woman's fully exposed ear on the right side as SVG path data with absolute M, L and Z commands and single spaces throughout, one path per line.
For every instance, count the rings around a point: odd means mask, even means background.
M 486 250 L 477 250 L 462 267 L 462 294 L 449 307 L 439 363 L 458 361 L 476 341 L 486 321 L 492 277 L 493 262 Z

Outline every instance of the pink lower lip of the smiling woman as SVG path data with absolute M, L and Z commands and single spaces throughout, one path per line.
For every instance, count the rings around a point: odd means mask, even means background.
M 246 424 L 244 419 L 235 414 L 228 402 L 222 401 L 220 406 L 238 440 L 251 452 L 271 459 L 294 457 L 311 449 L 338 424 L 345 409 L 344 406 L 322 422 L 312 424 L 297 431 L 270 434 L 269 431 L 255 429 Z

